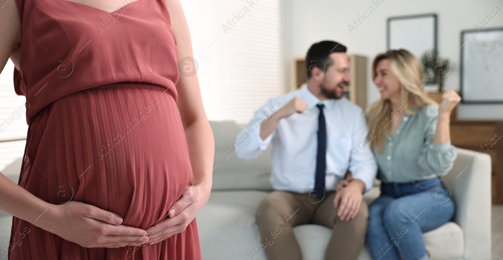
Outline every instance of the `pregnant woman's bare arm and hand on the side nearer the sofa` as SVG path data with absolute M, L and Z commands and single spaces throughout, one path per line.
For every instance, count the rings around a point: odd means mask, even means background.
M 193 66 L 192 41 L 182 5 L 179 0 L 165 0 L 165 3 L 171 16 L 171 29 L 177 39 L 179 60 L 189 57 L 185 59 L 189 63 L 184 65 Z M 188 77 L 181 73 L 176 88 L 179 94 L 177 106 L 189 146 L 192 184 L 170 208 L 170 217 L 152 226 L 156 232 L 150 237 L 149 244 L 183 232 L 204 207 L 211 192 L 215 142 L 204 112 L 197 74 Z

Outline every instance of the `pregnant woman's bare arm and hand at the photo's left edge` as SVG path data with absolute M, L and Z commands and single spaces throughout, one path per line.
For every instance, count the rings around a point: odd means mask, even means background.
M 21 24 L 15 0 L 0 8 L 0 68 L 9 57 L 19 69 Z M 146 231 L 118 225 L 119 215 L 81 202 L 43 201 L 0 172 L 0 210 L 85 247 L 121 247 L 146 242 Z

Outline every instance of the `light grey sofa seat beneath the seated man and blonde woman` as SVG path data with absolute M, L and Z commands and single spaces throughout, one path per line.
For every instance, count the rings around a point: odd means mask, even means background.
M 206 206 L 196 216 L 203 259 L 267 259 L 255 222 L 257 206 L 267 194 L 265 191 L 211 192 Z M 373 201 L 372 194 L 378 196 L 378 193 L 366 194 L 365 200 Z M 293 231 L 304 259 L 323 259 L 330 228 L 308 224 L 295 226 Z M 454 222 L 426 232 L 423 237 L 432 259 L 453 259 L 463 255 L 463 231 Z M 368 260 L 370 257 L 365 245 L 358 259 Z

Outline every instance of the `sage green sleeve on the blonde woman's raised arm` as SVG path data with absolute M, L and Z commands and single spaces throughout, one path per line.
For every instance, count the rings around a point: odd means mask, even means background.
M 454 160 L 458 156 L 457 149 L 451 141 L 433 144 L 433 138 L 437 131 L 438 117 L 432 118 L 426 127 L 425 142 L 421 148 L 417 164 L 423 169 L 436 176 L 447 175 L 454 166 Z

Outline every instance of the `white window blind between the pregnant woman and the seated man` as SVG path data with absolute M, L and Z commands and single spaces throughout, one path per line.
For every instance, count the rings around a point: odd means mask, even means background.
M 208 119 L 247 123 L 269 98 L 283 94 L 280 1 L 181 3 Z

